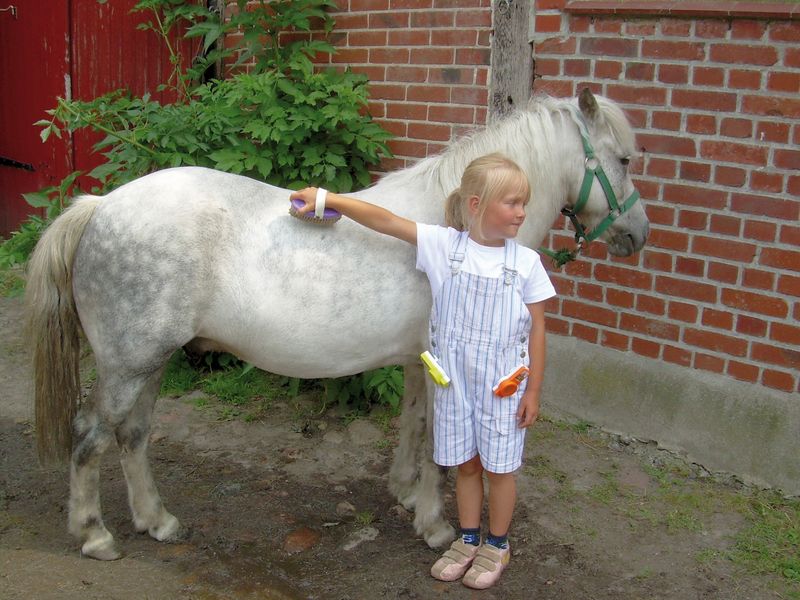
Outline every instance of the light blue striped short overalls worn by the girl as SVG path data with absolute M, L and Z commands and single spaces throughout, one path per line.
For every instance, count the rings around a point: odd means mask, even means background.
M 531 316 L 516 271 L 516 242 L 506 241 L 498 278 L 463 272 L 466 251 L 464 232 L 451 248 L 451 275 L 431 311 L 431 352 L 451 379 L 448 387 L 436 387 L 433 460 L 455 466 L 479 454 L 486 470 L 509 473 L 522 464 L 525 429 L 516 414 L 525 385 L 506 398 L 492 387 L 529 364 Z

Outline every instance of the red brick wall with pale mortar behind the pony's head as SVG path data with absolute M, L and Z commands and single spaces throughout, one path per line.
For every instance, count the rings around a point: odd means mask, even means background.
M 798 390 L 800 5 L 644 4 L 535 0 L 534 90 L 572 96 L 588 85 L 621 103 L 652 231 L 637 256 L 594 243 L 553 272 L 548 329 Z M 372 114 L 397 136 L 385 168 L 485 123 L 489 0 L 339 7 L 332 62 L 370 78 Z M 556 223 L 550 247 L 571 240 Z

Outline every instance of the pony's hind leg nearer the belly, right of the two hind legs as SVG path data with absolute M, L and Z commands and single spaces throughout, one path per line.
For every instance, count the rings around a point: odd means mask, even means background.
M 180 529 L 178 519 L 164 508 L 147 460 L 150 423 L 162 374 L 163 369 L 159 369 L 150 376 L 139 400 L 116 430 L 133 526 L 160 542 L 176 539 Z

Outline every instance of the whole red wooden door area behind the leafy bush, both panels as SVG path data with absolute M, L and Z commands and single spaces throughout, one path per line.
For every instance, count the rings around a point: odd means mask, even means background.
M 15 7 L 13 15 L 0 12 L 0 236 L 32 212 L 21 194 L 102 162 L 92 151 L 99 136 L 85 130 L 42 144 L 33 123 L 47 117 L 59 96 L 91 100 L 123 88 L 174 100 L 157 90 L 169 79 L 169 53 L 156 34 L 137 29 L 151 16 L 131 14 L 136 1 L 0 0 L 0 9 Z M 172 45 L 191 59 L 192 45 L 180 32 Z M 93 183 L 81 180 L 85 191 Z

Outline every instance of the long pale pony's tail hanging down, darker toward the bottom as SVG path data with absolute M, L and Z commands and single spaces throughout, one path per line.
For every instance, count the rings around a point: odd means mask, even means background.
M 100 202 L 77 199 L 45 230 L 27 268 L 25 304 L 32 345 L 36 448 L 42 463 L 63 462 L 72 448 L 80 398 L 80 320 L 72 295 L 72 263 Z

